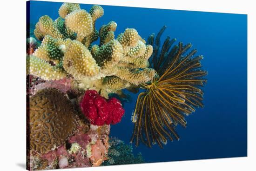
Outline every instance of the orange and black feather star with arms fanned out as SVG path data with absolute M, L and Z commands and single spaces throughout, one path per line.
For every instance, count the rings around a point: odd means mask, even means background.
M 141 141 L 148 147 L 167 143 L 169 138 L 179 139 L 175 126 L 186 127 L 185 116 L 203 107 L 201 87 L 206 83 L 207 72 L 200 69 L 202 55 L 195 56 L 195 49 L 188 52 L 191 44 L 182 42 L 172 46 L 176 39 L 167 37 L 160 48 L 160 38 L 166 26 L 159 33 L 148 37 L 148 44 L 154 47 L 149 59 L 157 76 L 140 87 L 145 89 L 138 95 L 133 122 L 134 133 L 131 142 L 138 146 Z M 187 53 L 188 52 L 188 53 Z

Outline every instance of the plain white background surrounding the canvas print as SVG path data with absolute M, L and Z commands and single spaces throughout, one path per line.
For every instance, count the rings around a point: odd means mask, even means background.
M 51 0 L 57 1 L 57 0 Z M 66 2 L 248 14 L 248 157 L 80 168 L 74 171 L 256 170 L 256 5 L 254 0 L 60 0 Z M 235 35 L 234 35 L 235 36 Z M 26 0 L 0 4 L 0 171 L 25 170 Z M 241 57 L 244 58 L 244 57 Z M 243 59 L 242 59 L 243 60 Z M 217 68 L 216 68 L 217 69 Z M 238 68 L 239 69 L 239 68 Z M 234 92 L 237 93 L 237 92 Z M 154 154 L 152 154 L 154 155 Z M 70 170 L 70 169 L 69 169 Z M 62 170 L 67 171 L 67 169 Z

